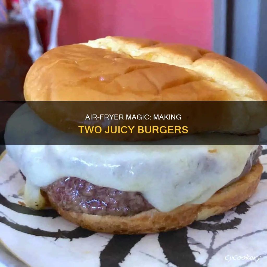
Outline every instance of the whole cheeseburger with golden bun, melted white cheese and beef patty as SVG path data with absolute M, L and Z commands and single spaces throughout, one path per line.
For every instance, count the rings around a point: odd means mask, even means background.
M 113 234 L 179 229 L 239 205 L 259 184 L 261 146 L 251 140 L 267 124 L 267 85 L 230 58 L 188 45 L 100 38 L 43 54 L 26 76 L 24 96 L 27 104 L 10 117 L 5 141 L 25 176 L 25 204 L 34 209 L 49 204 L 86 229 Z M 220 101 L 220 108 L 214 119 L 203 105 L 194 114 L 197 126 L 190 135 L 176 136 L 175 145 L 173 136 L 138 134 L 123 139 L 137 142 L 133 146 L 114 145 L 114 138 L 107 144 L 60 144 L 88 123 L 76 112 L 77 102 L 62 103 L 84 100 L 122 106 L 129 100 Z M 231 101 L 239 101 L 240 109 Z M 252 101 L 257 108 L 248 104 Z M 234 117 L 225 119 L 225 113 Z M 31 143 L 36 134 L 44 143 Z M 207 141 L 222 136 L 231 144 Z M 193 146 L 188 138 L 204 141 Z M 248 141 L 237 145 L 240 139 Z

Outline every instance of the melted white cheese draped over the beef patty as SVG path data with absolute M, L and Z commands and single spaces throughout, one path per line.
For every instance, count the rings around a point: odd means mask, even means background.
M 226 137 L 233 145 L 206 145 L 210 138 Z M 77 145 L 60 145 L 66 138 L 70 135 L 46 124 L 27 104 L 10 117 L 5 140 L 11 145 L 6 150 L 27 178 L 27 205 L 41 208 L 40 187 L 74 176 L 97 186 L 139 191 L 156 209 L 168 212 L 185 203 L 207 201 L 241 174 L 250 153 L 258 147 L 250 145 L 249 136 L 215 133 L 184 135 L 177 145 L 168 144 L 170 140 L 154 145 L 86 145 L 88 139 L 78 137 Z M 190 138 L 203 144 L 183 145 Z M 234 145 L 236 138 L 248 140 L 248 145 Z M 43 145 L 39 145 L 41 140 Z M 21 145 L 25 142 L 31 145 Z M 157 145 L 162 142 L 166 145 Z

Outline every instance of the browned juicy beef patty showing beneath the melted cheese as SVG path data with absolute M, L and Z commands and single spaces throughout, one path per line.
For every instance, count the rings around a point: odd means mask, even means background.
M 242 173 L 227 185 L 249 173 L 258 163 L 262 147 L 250 155 Z M 227 186 L 226 185 L 226 186 Z M 139 192 L 126 192 L 113 188 L 96 186 L 76 177 L 58 179 L 42 188 L 50 202 L 66 211 L 95 215 L 131 216 L 154 209 Z

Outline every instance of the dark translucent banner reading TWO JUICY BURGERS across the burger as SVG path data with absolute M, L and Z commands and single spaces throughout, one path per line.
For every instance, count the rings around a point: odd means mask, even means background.
M 5 143 L 258 144 L 266 125 L 266 101 L 29 101 Z

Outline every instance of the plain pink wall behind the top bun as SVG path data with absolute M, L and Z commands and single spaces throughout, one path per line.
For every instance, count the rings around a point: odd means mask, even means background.
M 113 35 L 212 49 L 213 0 L 62 1 L 59 45 Z

